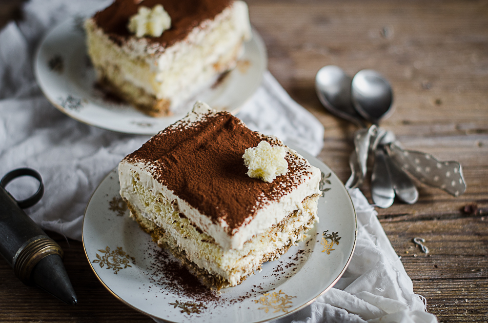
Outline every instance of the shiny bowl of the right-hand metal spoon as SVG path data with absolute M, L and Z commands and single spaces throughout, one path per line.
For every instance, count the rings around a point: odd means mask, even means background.
M 356 111 L 374 124 L 391 113 L 393 92 L 386 79 L 370 69 L 361 70 L 351 81 L 351 99 Z

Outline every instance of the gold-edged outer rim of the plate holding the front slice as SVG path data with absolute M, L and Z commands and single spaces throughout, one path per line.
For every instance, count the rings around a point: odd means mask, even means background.
M 296 150 L 300 155 L 303 156 L 303 152 L 305 152 L 303 149 L 300 149 L 297 147 L 294 147 L 293 145 L 288 145 L 288 147 Z M 330 167 L 328 167 L 325 162 L 322 162 L 321 160 L 319 160 L 317 157 L 305 152 L 306 155 L 310 155 L 310 157 L 312 157 L 316 162 L 319 162 L 319 163 L 322 163 L 323 165 L 325 165 L 329 170 L 330 172 L 332 172 L 336 177 L 337 175 L 335 174 L 335 172 L 330 169 Z M 307 160 L 309 158 L 306 158 Z M 98 190 L 98 188 L 100 187 L 100 185 L 102 184 L 102 182 L 104 182 L 109 176 L 110 174 L 112 174 L 112 172 L 114 172 L 114 170 L 118 168 L 118 166 L 115 166 L 112 170 L 110 170 L 107 175 L 102 179 L 102 181 L 100 181 L 100 183 L 97 185 L 97 187 L 95 188 L 95 190 L 93 191 L 93 193 L 91 194 L 90 196 L 90 199 L 88 200 L 86 206 L 85 206 L 85 210 L 83 212 L 83 221 L 81 222 L 81 242 L 83 244 L 83 252 L 85 253 L 85 257 L 88 261 L 88 263 L 90 264 L 90 268 L 92 269 L 93 273 L 95 274 L 95 276 L 97 277 L 97 279 L 100 281 L 100 283 L 102 283 L 102 285 L 115 297 L 117 298 L 119 301 L 121 301 L 122 303 L 128 305 L 129 307 L 137 310 L 138 312 L 140 313 L 143 313 L 144 315 L 147 315 L 149 316 L 150 318 L 154 319 L 158 319 L 158 320 L 163 320 L 164 322 L 168 322 L 168 323 L 181 323 L 181 322 L 175 322 L 175 321 L 169 321 L 167 319 L 163 319 L 163 318 L 160 318 L 160 317 L 155 317 L 145 311 L 143 311 L 142 309 L 128 303 L 127 301 L 123 300 L 122 297 L 118 296 L 114 291 L 112 291 L 112 289 L 110 289 L 110 287 L 108 287 L 103 281 L 102 281 L 102 278 L 97 274 L 97 272 L 95 271 L 95 268 L 93 267 L 92 263 L 90 262 L 90 259 L 88 258 L 88 253 L 87 253 L 87 250 L 86 250 L 86 245 L 85 245 L 85 242 L 84 242 L 84 235 L 83 235 L 83 228 L 84 228 L 84 222 L 85 222 L 85 215 L 86 215 L 86 210 L 88 208 L 88 205 L 90 204 L 93 196 L 95 195 L 95 192 Z M 117 173 L 118 175 L 118 173 Z M 337 179 L 339 180 L 339 178 L 337 177 Z M 319 293 L 317 296 L 313 297 L 310 301 L 298 306 L 297 308 L 289 311 L 289 312 L 286 312 L 286 313 L 283 313 L 282 315 L 279 315 L 279 316 L 276 316 L 276 317 L 273 317 L 273 318 L 269 318 L 269 319 L 266 319 L 266 320 L 261 320 L 261 321 L 253 321 L 252 323 L 264 323 L 264 322 L 268 322 L 268 321 L 273 321 L 273 320 L 277 320 L 277 319 L 281 319 L 281 318 L 285 318 L 286 316 L 288 315 L 291 315 L 293 313 L 296 313 L 297 311 L 305 308 L 306 306 L 314 303 L 317 298 L 319 298 L 320 296 L 324 295 L 328 290 L 330 290 L 338 281 L 339 279 L 341 279 L 341 277 L 344 275 L 344 273 L 346 272 L 347 270 L 347 267 L 349 266 L 349 263 L 351 262 L 351 259 L 352 259 L 352 256 L 354 255 L 354 251 L 356 250 L 356 244 L 357 244 L 357 238 L 358 238 L 358 217 L 357 217 L 357 213 L 356 213 L 356 208 L 354 207 L 354 203 L 352 202 L 352 198 L 349 194 L 349 192 L 347 191 L 346 189 L 346 186 L 344 185 L 343 182 L 341 182 L 339 180 L 339 182 L 342 184 L 340 186 L 341 189 L 343 189 L 345 192 L 346 192 L 346 195 L 347 197 L 349 198 L 349 201 L 352 205 L 352 210 L 354 212 L 354 225 L 355 225 L 355 229 L 354 229 L 354 242 L 353 242 L 353 245 L 352 245 L 352 250 L 351 250 L 351 253 L 349 254 L 348 256 L 348 259 L 346 261 L 346 264 L 344 265 L 344 267 L 342 268 L 341 272 L 338 274 L 338 276 L 332 281 L 332 283 L 330 283 L 324 291 L 322 291 L 321 293 Z

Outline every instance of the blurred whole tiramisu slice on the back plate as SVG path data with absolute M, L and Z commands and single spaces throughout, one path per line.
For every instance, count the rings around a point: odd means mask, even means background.
M 116 0 L 85 30 L 99 83 L 155 117 L 234 67 L 251 37 L 241 0 Z

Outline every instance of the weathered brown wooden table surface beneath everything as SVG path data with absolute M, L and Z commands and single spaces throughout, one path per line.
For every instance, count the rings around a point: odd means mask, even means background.
M 414 205 L 378 209 L 413 289 L 439 322 L 488 322 L 488 1 L 249 0 L 269 70 L 325 126 L 319 158 L 343 181 L 355 127 L 325 111 L 314 77 L 324 65 L 363 68 L 391 82 L 395 111 L 381 125 L 404 148 L 461 162 L 466 193 L 420 183 Z M 0 25 L 19 1 L 0 4 Z M 1 44 L 0 44 L 1 46 Z M 368 185 L 362 187 L 370 197 Z M 421 237 L 426 256 L 412 243 Z M 79 304 L 67 306 L 16 279 L 0 259 L 0 322 L 152 322 L 104 289 L 81 242 L 57 239 Z

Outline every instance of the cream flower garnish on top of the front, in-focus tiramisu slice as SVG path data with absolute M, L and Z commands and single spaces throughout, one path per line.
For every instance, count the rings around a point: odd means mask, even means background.
M 243 155 L 247 175 L 264 182 L 273 182 L 278 175 L 288 171 L 285 155 L 285 147 L 271 146 L 267 141 L 261 141 L 257 147 L 247 148 Z

